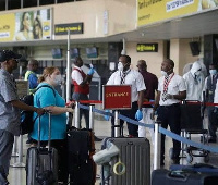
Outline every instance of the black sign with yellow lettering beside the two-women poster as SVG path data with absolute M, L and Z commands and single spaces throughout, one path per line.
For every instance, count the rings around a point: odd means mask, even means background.
M 70 34 L 83 34 L 83 23 L 72 23 L 72 24 L 56 24 L 55 35 L 68 35 Z

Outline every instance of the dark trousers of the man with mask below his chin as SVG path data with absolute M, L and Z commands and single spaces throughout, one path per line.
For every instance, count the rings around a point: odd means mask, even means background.
M 157 120 L 161 122 L 161 127 L 166 128 L 168 125 L 170 126 L 170 131 L 174 134 L 180 135 L 181 126 L 180 126 L 180 104 L 171 104 L 171 106 L 160 106 L 157 110 L 158 118 Z M 160 160 L 164 162 L 165 160 L 165 137 L 166 135 L 161 134 L 161 152 Z M 173 143 L 173 159 L 178 159 L 181 150 L 181 143 L 172 139 Z

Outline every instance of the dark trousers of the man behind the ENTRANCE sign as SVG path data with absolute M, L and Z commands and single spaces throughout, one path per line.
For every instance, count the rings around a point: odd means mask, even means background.
M 130 110 L 119 110 L 119 112 L 122 115 L 125 115 L 125 116 L 128 116 L 132 120 L 135 120 L 135 113 L 136 113 L 137 109 L 138 109 L 138 106 L 137 106 L 137 102 L 135 101 L 135 102 L 132 103 L 132 109 L 130 109 Z M 120 120 L 120 126 L 121 127 L 123 127 L 123 124 L 124 124 L 124 121 Z M 129 135 L 137 137 L 138 136 L 138 134 L 137 134 L 138 126 L 134 125 L 132 123 L 129 123 L 129 122 L 126 122 L 126 124 L 128 124 Z M 111 118 L 111 136 L 114 137 L 114 118 L 113 116 Z

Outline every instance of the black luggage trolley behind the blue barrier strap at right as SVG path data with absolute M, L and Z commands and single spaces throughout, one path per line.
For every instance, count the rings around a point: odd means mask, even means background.
M 184 100 L 181 103 L 181 136 L 192 139 L 193 134 L 202 134 L 201 141 L 208 143 L 208 131 L 204 130 L 204 103 L 201 101 Z M 194 157 L 204 158 L 203 162 L 209 161 L 209 151 L 182 144 L 182 158 L 186 157 L 187 163 L 193 162 Z

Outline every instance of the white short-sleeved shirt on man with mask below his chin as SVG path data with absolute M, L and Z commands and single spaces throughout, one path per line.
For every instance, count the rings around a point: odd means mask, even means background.
M 179 95 L 180 91 L 185 91 L 186 86 L 185 86 L 185 82 L 184 82 L 183 77 L 180 75 L 177 75 L 177 74 L 174 74 L 173 76 L 172 75 L 173 75 L 173 73 L 169 77 L 170 82 L 168 85 L 167 94 Z M 180 100 L 178 100 L 178 99 L 167 99 L 166 101 L 162 101 L 164 83 L 165 83 L 165 77 L 162 76 L 159 78 L 159 82 L 158 82 L 158 91 L 161 92 L 159 104 L 160 106 L 170 106 L 170 104 L 180 102 Z

